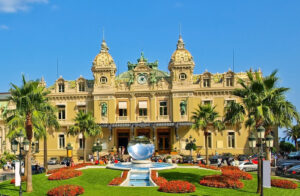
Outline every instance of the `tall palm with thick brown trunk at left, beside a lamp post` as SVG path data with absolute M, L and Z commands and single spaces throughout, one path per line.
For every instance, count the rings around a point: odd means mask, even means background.
M 10 100 L 16 105 L 16 111 L 20 116 L 25 117 L 25 132 L 26 137 L 30 144 L 32 142 L 33 133 L 36 129 L 33 126 L 33 119 L 35 114 L 42 111 L 42 105 L 47 102 L 46 95 L 49 94 L 45 90 L 45 87 L 40 85 L 39 80 L 26 81 L 25 76 L 22 76 L 22 85 L 19 87 L 15 84 L 11 84 L 10 89 L 11 97 Z M 37 115 L 38 116 L 38 115 Z M 31 145 L 27 152 L 27 162 L 31 163 Z M 27 164 L 27 165 L 28 165 Z M 31 165 L 27 167 L 27 183 L 26 191 L 32 192 L 32 171 Z

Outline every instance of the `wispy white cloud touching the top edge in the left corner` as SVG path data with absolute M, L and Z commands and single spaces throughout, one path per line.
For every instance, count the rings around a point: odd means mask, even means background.
M 0 12 L 15 13 L 26 11 L 34 3 L 48 3 L 48 0 L 0 0 Z

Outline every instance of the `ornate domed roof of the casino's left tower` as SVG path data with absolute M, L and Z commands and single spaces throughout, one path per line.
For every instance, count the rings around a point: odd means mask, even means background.
M 116 68 L 116 64 L 112 56 L 108 53 L 109 48 L 105 40 L 102 41 L 100 53 L 93 61 L 93 68 Z

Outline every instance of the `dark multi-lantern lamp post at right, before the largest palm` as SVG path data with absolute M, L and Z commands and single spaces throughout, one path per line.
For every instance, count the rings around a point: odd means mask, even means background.
M 259 150 L 259 168 L 257 170 L 257 176 L 258 176 L 258 193 L 260 190 L 260 195 L 263 196 L 264 195 L 264 187 L 263 187 L 263 158 L 264 158 L 264 150 L 263 150 L 263 146 L 264 144 L 266 145 L 266 147 L 271 148 L 273 147 L 273 136 L 271 134 L 269 134 L 266 138 L 265 137 L 265 128 L 263 126 L 260 126 L 257 128 L 257 139 L 258 139 L 258 145 L 256 145 L 256 137 L 254 136 L 254 134 L 252 133 L 249 138 L 249 146 L 250 148 L 254 149 L 256 146 L 258 147 Z M 259 175 L 260 173 L 260 175 Z

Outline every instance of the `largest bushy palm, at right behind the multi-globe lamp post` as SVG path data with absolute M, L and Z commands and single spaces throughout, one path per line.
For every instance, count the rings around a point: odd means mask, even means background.
M 277 71 L 263 77 L 260 72 L 247 72 L 247 80 L 239 79 L 242 88 L 235 89 L 233 95 L 241 98 L 241 103 L 229 106 L 226 110 L 226 121 L 235 122 L 236 116 L 245 113 L 247 119 L 245 126 L 250 130 L 256 130 L 259 126 L 265 126 L 270 132 L 273 126 L 286 126 L 293 117 L 298 118 L 295 107 L 285 99 L 285 93 L 289 90 L 277 87 Z M 237 106 L 239 105 L 239 106 Z M 231 108 L 232 107 L 232 108 Z M 241 110 L 236 110 L 238 107 Z M 228 113 L 227 113 L 228 112 Z M 258 165 L 258 184 L 260 184 L 260 163 Z M 258 186 L 257 192 L 261 192 Z

